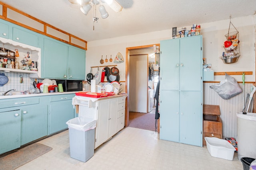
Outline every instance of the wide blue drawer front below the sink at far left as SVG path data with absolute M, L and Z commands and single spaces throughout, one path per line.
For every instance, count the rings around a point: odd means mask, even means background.
M 39 104 L 39 98 L 6 99 L 4 101 L 1 101 L 0 108 L 26 106 L 30 104 Z

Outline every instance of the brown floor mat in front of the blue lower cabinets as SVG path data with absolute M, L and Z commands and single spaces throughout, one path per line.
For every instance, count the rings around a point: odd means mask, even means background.
M 49 152 L 51 147 L 40 143 L 33 143 L 0 158 L 0 170 L 14 170 L 31 160 Z

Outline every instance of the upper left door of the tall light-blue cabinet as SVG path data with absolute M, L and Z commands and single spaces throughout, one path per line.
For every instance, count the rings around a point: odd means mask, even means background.
M 160 41 L 160 63 L 164 71 L 160 71 L 160 88 L 162 90 L 179 90 L 180 81 L 180 40 Z

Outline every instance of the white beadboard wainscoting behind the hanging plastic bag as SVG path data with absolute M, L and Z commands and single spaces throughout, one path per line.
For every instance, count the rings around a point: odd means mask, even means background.
M 204 99 L 203 104 L 219 105 L 220 106 L 220 118 L 222 120 L 222 138 L 237 136 L 237 123 L 236 113 L 242 112 L 243 110 L 243 92 L 230 98 L 228 100 L 222 99 L 217 92 L 210 88 L 212 85 L 218 83 L 203 83 Z M 242 83 L 239 84 L 242 88 Z M 244 100 L 246 96 L 250 94 L 250 88 L 252 84 L 246 83 L 244 85 Z

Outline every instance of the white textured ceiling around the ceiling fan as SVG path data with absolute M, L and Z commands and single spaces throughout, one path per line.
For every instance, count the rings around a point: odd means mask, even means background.
M 249 16 L 256 11 L 256 0 L 117 0 L 124 7 L 121 12 L 103 4 L 109 16 L 102 19 L 97 6 L 99 20 L 93 23 L 93 8 L 86 16 L 68 0 L 1 1 L 86 41 Z

